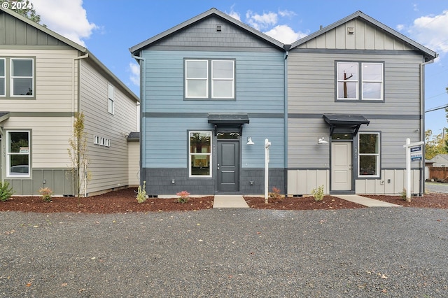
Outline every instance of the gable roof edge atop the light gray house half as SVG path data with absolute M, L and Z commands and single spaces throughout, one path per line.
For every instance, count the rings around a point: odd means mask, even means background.
M 339 27 L 340 25 L 342 25 L 346 22 L 349 22 L 351 20 L 354 20 L 356 18 L 361 18 L 361 19 L 365 20 L 365 22 L 368 22 L 368 23 L 386 31 L 388 34 L 391 34 L 392 36 L 395 36 L 395 38 L 399 38 L 403 42 L 407 43 L 412 48 L 415 48 L 416 50 L 421 51 L 425 57 L 426 62 L 433 60 L 433 59 L 437 58 L 437 56 L 438 56 L 437 53 L 434 52 L 433 50 L 430 50 L 430 49 L 424 47 L 423 45 L 416 43 L 411 38 L 408 38 L 408 37 L 404 36 L 403 34 L 400 34 L 398 31 L 395 31 L 395 30 L 391 29 L 390 27 L 387 27 L 385 24 L 378 22 L 373 17 L 366 15 L 365 13 L 361 12 L 360 10 L 356 11 L 356 13 L 353 13 L 347 17 L 344 17 L 342 20 L 339 20 L 333 24 L 328 25 L 327 27 L 324 27 L 323 29 L 321 29 L 319 31 L 314 32 L 313 34 L 309 34 L 308 36 L 305 36 L 304 38 L 301 38 L 300 40 L 295 41 L 291 45 L 291 49 L 295 48 L 299 45 L 302 45 L 302 43 L 306 43 L 307 41 L 310 41 L 311 39 L 316 38 L 317 36 L 320 36 L 321 34 L 325 34 L 326 32 L 328 32 L 332 29 L 335 29 L 336 27 Z

